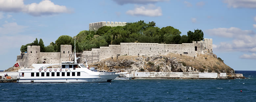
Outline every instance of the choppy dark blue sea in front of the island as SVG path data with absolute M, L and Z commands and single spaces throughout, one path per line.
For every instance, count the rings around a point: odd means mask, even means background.
M 248 79 L 135 79 L 105 83 L 0 83 L 1 102 L 256 102 Z M 242 92 L 240 92 L 242 90 Z

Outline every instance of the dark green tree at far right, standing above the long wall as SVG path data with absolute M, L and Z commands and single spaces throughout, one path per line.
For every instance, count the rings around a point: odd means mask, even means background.
M 201 41 L 204 39 L 204 33 L 201 29 L 196 29 L 194 30 L 194 32 L 188 31 L 187 33 L 190 43 L 192 43 L 193 41 Z

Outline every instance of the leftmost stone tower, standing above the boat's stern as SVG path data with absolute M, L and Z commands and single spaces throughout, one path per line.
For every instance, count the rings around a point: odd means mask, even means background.
M 40 63 L 40 46 L 27 46 L 27 65 L 28 68 L 33 68 L 32 64 Z

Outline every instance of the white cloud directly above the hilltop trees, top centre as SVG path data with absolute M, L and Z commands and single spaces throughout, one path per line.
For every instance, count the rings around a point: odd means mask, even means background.
M 155 5 L 148 5 L 147 7 L 144 6 L 135 6 L 134 10 L 126 11 L 126 14 L 132 16 L 162 16 L 162 9 L 161 7 L 155 7 Z

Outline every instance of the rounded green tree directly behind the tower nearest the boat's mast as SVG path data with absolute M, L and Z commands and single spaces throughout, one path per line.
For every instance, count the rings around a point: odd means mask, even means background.
M 71 41 L 72 41 L 72 37 L 70 37 L 70 36 L 68 36 L 68 35 L 62 35 L 62 36 L 60 36 L 60 37 L 55 41 L 55 43 L 56 43 L 56 48 L 57 48 L 57 49 L 55 49 L 56 52 L 60 52 L 60 46 L 61 46 L 61 45 L 65 45 L 65 44 L 69 45 L 69 44 L 71 43 Z

